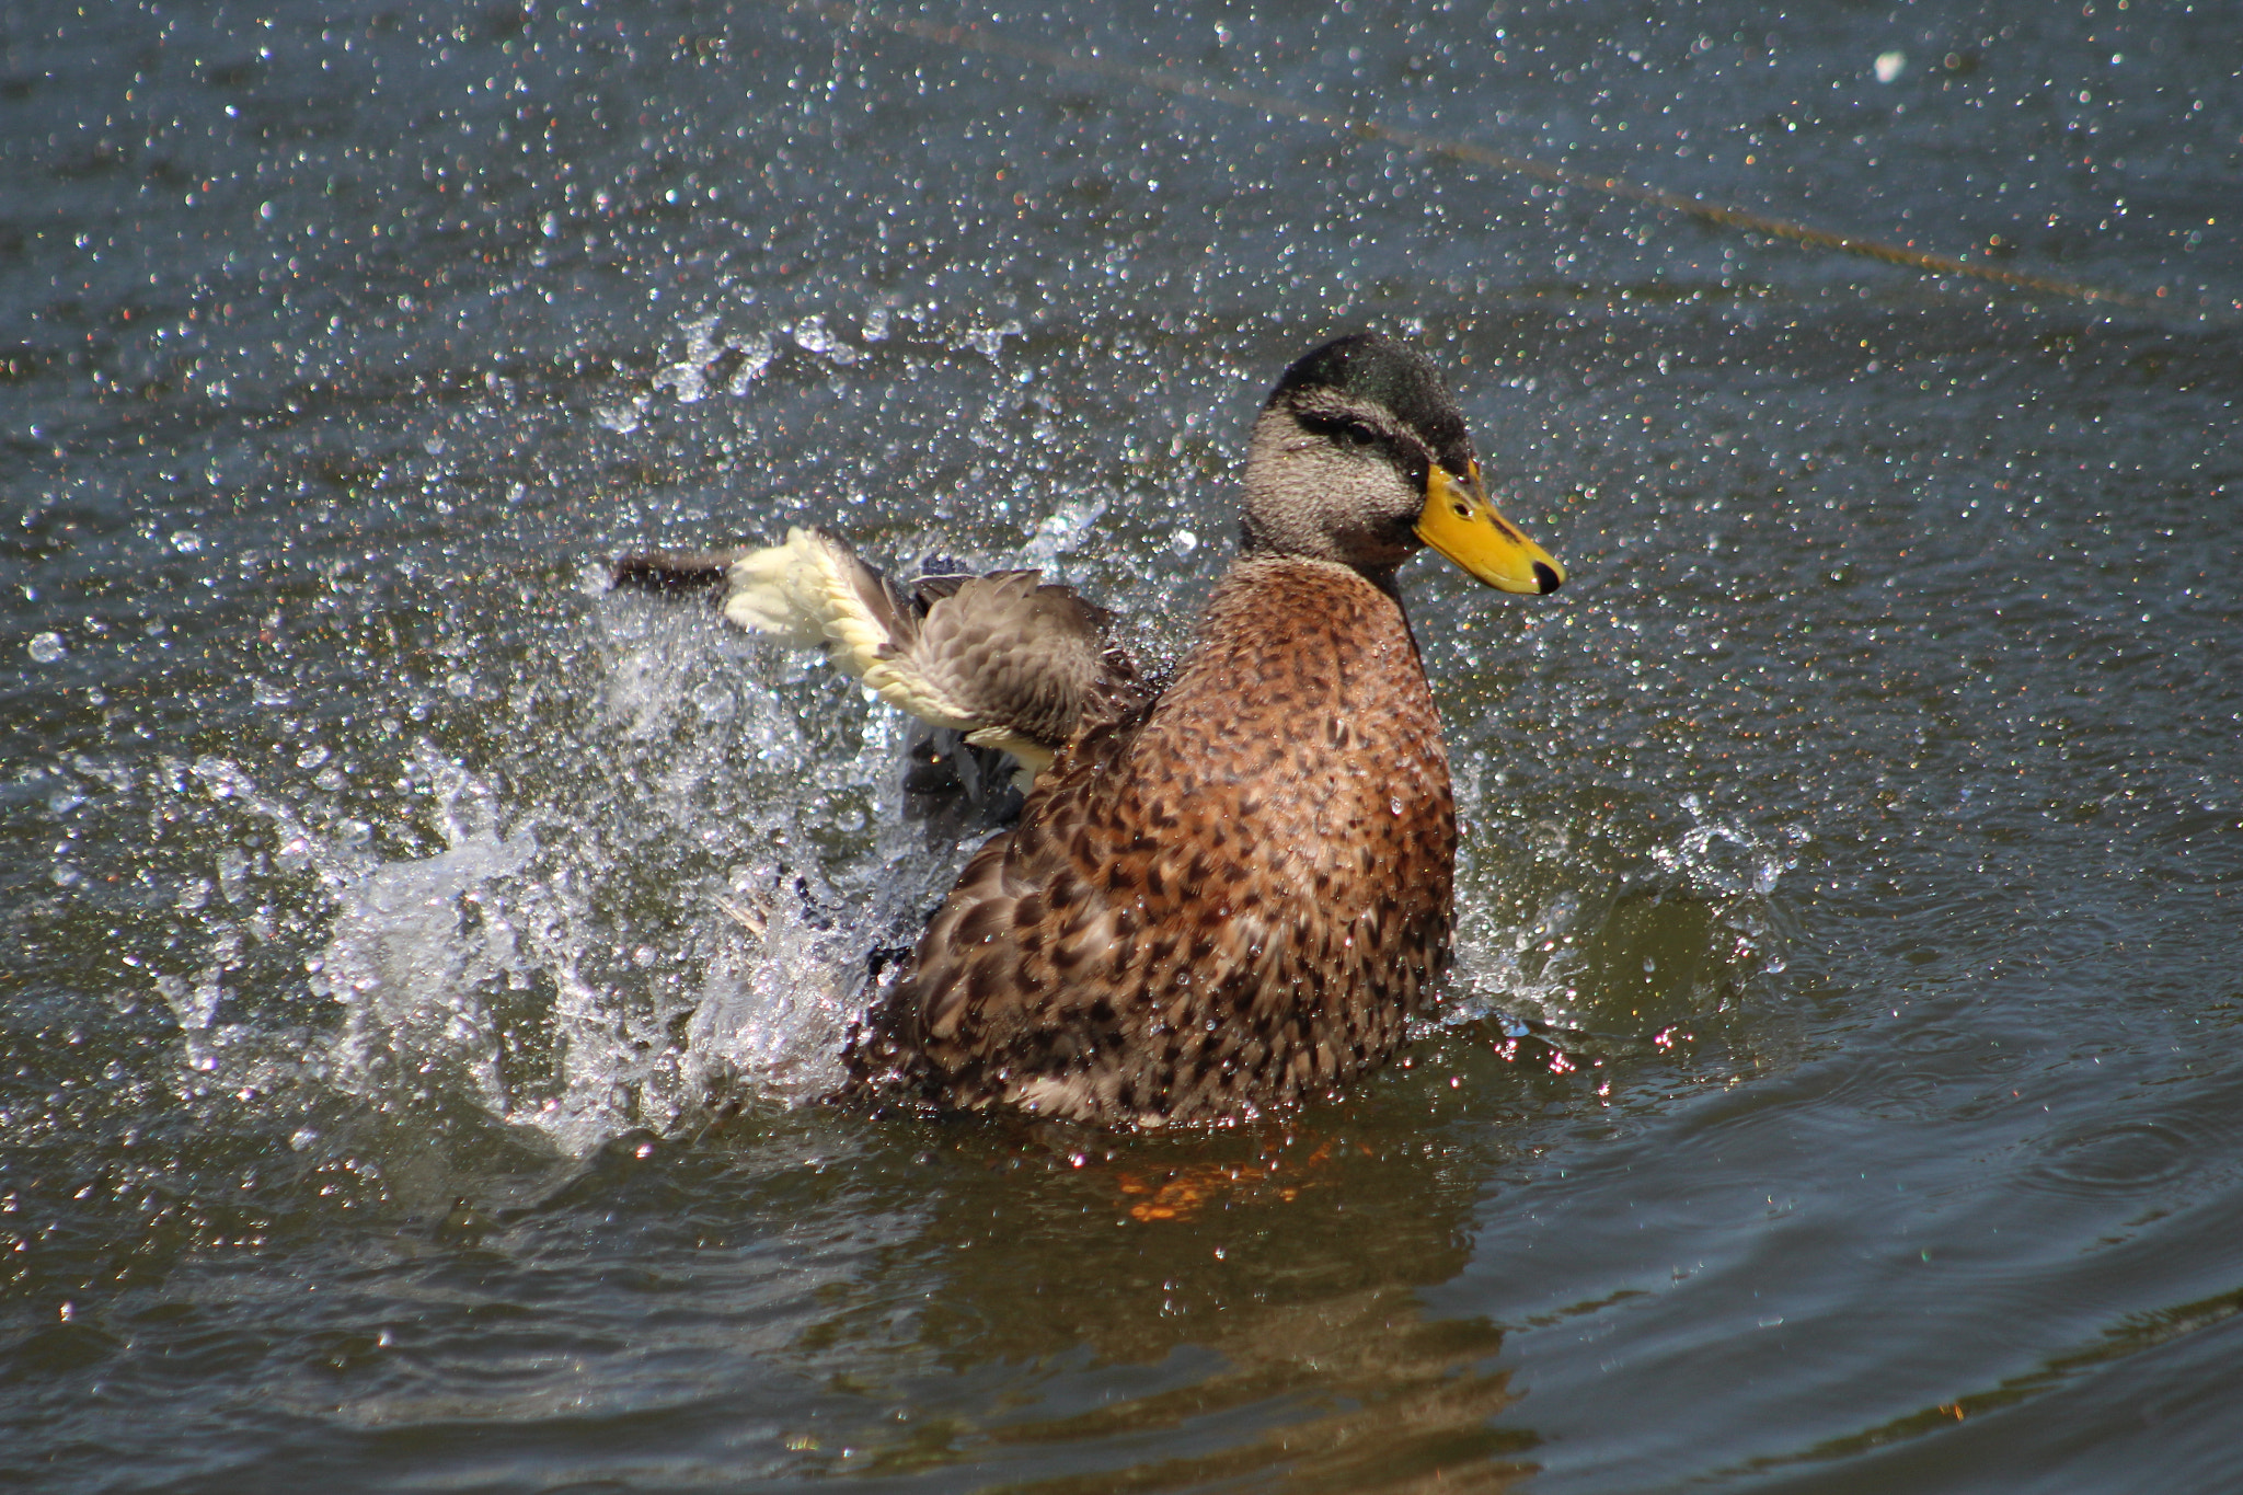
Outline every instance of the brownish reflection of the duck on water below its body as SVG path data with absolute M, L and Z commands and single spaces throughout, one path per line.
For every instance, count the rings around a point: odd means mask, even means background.
M 1514 1401 L 1501 1329 L 1427 1320 L 1413 1291 L 1469 1248 L 1474 1177 L 1440 1148 L 1377 1121 L 1180 1148 L 962 1130 L 920 1154 L 924 1224 L 796 1343 L 879 1399 L 951 1410 L 825 1468 L 989 1464 L 1043 1488 L 1070 1446 L 1155 1486 L 1436 1488 L 1483 1466 L 1496 1488 L 1530 1468 L 1532 1434 L 1487 1426 Z M 960 1376 L 987 1410 L 944 1390 Z

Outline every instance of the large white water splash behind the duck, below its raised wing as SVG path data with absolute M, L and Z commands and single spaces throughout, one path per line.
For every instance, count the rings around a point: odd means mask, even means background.
M 523 679 L 516 699 L 543 693 L 550 719 L 476 751 L 408 749 L 401 814 L 377 814 L 386 854 L 316 776 L 298 805 L 231 758 L 177 771 L 271 832 L 265 870 L 220 814 L 229 843 L 182 908 L 310 872 L 292 894 L 310 923 L 298 991 L 341 1009 L 325 1033 L 280 1033 L 262 993 L 227 1024 L 240 935 L 224 935 L 236 948 L 155 977 L 188 1067 L 287 1047 L 359 1103 L 467 1105 L 572 1157 L 686 1125 L 713 1096 L 830 1094 L 868 950 L 908 939 L 971 849 L 902 820 L 902 724 L 814 663 L 646 598 L 590 601 Z M 285 762 L 334 769 L 310 746 Z

